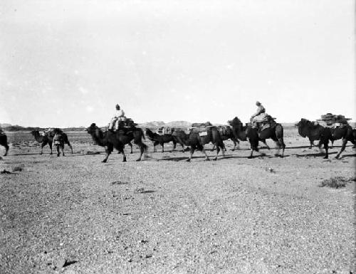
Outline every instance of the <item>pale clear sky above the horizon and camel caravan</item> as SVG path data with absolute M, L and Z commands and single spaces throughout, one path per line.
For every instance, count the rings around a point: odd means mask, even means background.
M 351 0 L 0 1 L 0 123 L 356 120 Z

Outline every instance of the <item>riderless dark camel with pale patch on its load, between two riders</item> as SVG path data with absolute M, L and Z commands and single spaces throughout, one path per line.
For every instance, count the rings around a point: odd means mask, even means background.
M 199 149 L 205 155 L 205 160 L 209 161 L 209 157 L 206 154 L 204 149 L 204 144 L 209 144 L 212 142 L 216 146 L 216 157 L 214 161 L 218 158 L 218 154 L 221 149 L 221 153 L 224 155 L 224 142 L 222 141 L 221 135 L 219 130 L 216 127 L 207 127 L 206 132 L 198 132 L 197 130 L 191 130 L 189 134 L 185 133 L 182 130 L 177 130 L 172 133 L 179 142 L 184 143 L 186 146 L 190 146 L 190 155 L 187 162 L 190 162 L 193 156 L 195 149 Z

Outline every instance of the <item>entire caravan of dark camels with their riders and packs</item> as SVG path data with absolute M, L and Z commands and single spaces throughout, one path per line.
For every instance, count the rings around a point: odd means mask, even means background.
M 251 153 L 248 158 L 253 158 L 253 152 L 259 151 L 259 142 L 263 143 L 267 149 L 268 144 L 266 139 L 272 139 L 276 143 L 276 157 L 283 157 L 286 149 L 286 144 L 283 140 L 283 126 L 281 123 L 276 122 L 276 118 L 266 114 L 264 107 L 260 102 L 256 102 L 258 106 L 257 112 L 252 115 L 251 119 L 247 123 L 241 122 L 239 117 L 234 117 L 227 122 L 228 125 L 215 126 L 210 122 L 193 123 L 189 128 L 171 128 L 171 127 L 159 127 L 157 130 L 150 128 L 142 129 L 137 127 L 137 124 L 130 118 L 125 117 L 125 112 L 120 109 L 119 105 L 116 105 L 116 112 L 108 127 L 100 128 L 95 123 L 91 124 L 86 129 L 88 134 L 92 137 L 95 144 L 101 147 L 105 147 L 105 158 L 103 162 L 108 161 L 108 157 L 117 149 L 122 154 L 122 161 L 126 162 L 125 144 L 128 144 L 132 153 L 132 141 L 140 148 L 140 156 L 136 161 L 142 159 L 142 155 L 147 152 L 147 144 L 145 140 L 148 139 L 153 144 L 153 151 L 157 152 L 157 145 L 162 147 L 164 152 L 164 144 L 169 142 L 173 143 L 171 152 L 176 149 L 177 144 L 182 147 L 181 152 L 189 150 L 189 158 L 187 162 L 190 162 L 193 154 L 196 150 L 201 151 L 204 154 L 205 160 L 209 160 L 206 154 L 206 144 L 213 144 L 214 151 L 216 148 L 216 155 L 214 160 L 218 159 L 219 153 L 224 157 L 226 147 L 224 140 L 231 139 L 234 143 L 234 147 L 231 149 L 234 151 L 236 145 L 239 146 L 240 141 L 249 142 Z M 345 118 L 343 115 L 333 115 L 327 113 L 321 115 L 321 119 L 310 121 L 302 118 L 295 127 L 298 128 L 298 133 L 302 137 L 308 137 L 311 149 L 314 145 L 314 141 L 319 141 L 318 147 L 323 145 L 325 149 L 325 159 L 329 157 L 329 141 L 332 143 L 337 139 L 342 139 L 342 147 L 335 158 L 339 158 L 341 153 L 345 150 L 347 142 L 352 142 L 354 147 L 356 146 L 356 129 L 347 122 L 349 118 Z M 43 154 L 43 147 L 46 144 L 49 145 L 52 151 L 52 145 L 56 146 L 57 156 L 60 156 L 60 150 L 62 155 L 64 154 L 64 145 L 68 144 L 73 154 L 73 147 L 71 146 L 68 136 L 63 130 L 55 128 L 48 129 L 44 132 L 33 130 L 31 132 L 33 137 L 38 143 L 41 144 L 41 152 Z M 7 142 L 6 134 L 0 128 L 0 145 L 4 146 L 6 156 L 9 145 Z

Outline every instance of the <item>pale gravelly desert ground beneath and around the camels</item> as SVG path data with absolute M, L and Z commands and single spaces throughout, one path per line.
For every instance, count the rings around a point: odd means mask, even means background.
M 225 157 L 195 152 L 189 163 L 189 152 L 154 153 L 147 139 L 142 162 L 134 146 L 127 162 L 115 152 L 104 164 L 86 132 L 67 133 L 74 154 L 56 157 L 8 132 L 0 273 L 356 273 L 350 143 L 323 159 L 292 128 L 284 158 L 262 148 L 247 159 L 247 142 L 232 152 L 226 141 Z M 330 179 L 345 187 L 320 186 Z

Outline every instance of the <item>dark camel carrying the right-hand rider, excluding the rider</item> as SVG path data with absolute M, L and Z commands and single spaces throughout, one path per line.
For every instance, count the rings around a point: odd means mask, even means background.
M 266 144 L 266 139 L 273 139 L 276 142 L 277 149 L 283 149 L 282 154 L 276 153 L 275 156 L 284 156 L 284 149 L 286 149 L 286 144 L 283 141 L 283 127 L 281 124 L 276 124 L 273 127 L 268 127 L 264 130 L 258 131 L 257 128 L 252 127 L 251 125 L 243 126 L 241 120 L 238 117 L 234 117 L 233 120 L 228 121 L 232 127 L 234 136 L 237 139 L 241 139 L 241 141 L 248 141 L 250 142 L 251 147 L 251 154 L 248 159 L 252 158 L 253 151 L 256 150 L 258 152 L 258 142 L 261 141 L 263 144 L 266 145 L 268 149 L 268 145 Z

